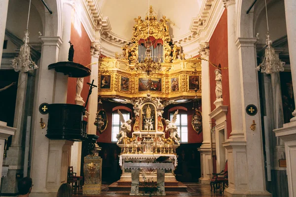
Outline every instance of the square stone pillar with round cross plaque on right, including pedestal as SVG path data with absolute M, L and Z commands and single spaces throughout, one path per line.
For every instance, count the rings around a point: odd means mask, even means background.
M 258 73 L 256 71 L 257 38 L 238 38 L 236 45 L 239 53 L 239 75 L 241 78 L 242 105 L 254 104 L 258 113 L 249 116 L 242 114 L 245 141 L 227 140 L 223 146 L 227 148 L 228 183 L 226 196 L 271 196 L 265 190 L 264 156 L 262 147 L 262 132 L 260 124 Z M 229 70 L 230 71 L 230 70 Z M 231 75 L 229 75 L 231 76 Z M 232 76 L 231 76 L 232 77 Z M 235 107 L 235 106 L 234 106 Z M 233 107 L 232 107 L 233 108 Z M 255 121 L 256 129 L 250 129 Z

